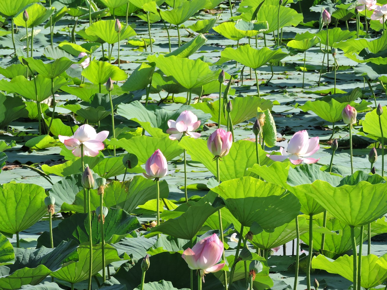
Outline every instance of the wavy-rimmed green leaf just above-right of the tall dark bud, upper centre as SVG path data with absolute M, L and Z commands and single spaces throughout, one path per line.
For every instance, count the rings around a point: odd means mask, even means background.
M 237 49 L 233 48 L 225 48 L 221 52 L 221 56 L 236 60 L 240 62 L 242 65 L 245 65 L 250 68 L 259 68 L 262 65 L 265 65 L 272 58 L 276 58 L 277 56 L 282 56 L 284 58 L 287 56 L 287 53 L 284 53 L 281 49 L 272 50 L 267 47 L 262 47 L 260 49 L 252 48 L 250 45 L 246 44 L 238 47 Z

